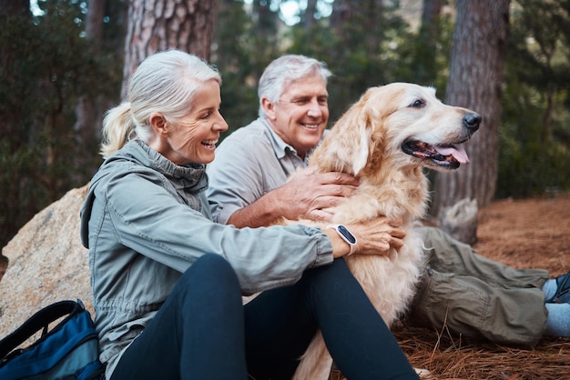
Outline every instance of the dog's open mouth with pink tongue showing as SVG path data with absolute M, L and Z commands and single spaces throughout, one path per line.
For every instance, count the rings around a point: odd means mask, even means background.
M 469 157 L 461 146 L 429 145 L 418 140 L 408 140 L 402 144 L 402 150 L 446 169 L 457 169 L 461 164 L 469 164 Z

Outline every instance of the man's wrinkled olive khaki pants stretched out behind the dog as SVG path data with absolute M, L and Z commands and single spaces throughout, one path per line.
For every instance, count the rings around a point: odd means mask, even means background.
M 536 345 L 545 332 L 544 269 L 514 269 L 477 255 L 443 231 L 422 227 L 427 268 L 410 325 L 504 345 Z

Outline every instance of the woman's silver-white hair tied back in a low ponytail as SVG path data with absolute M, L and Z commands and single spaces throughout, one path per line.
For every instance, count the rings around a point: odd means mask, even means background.
M 101 155 L 113 154 L 134 138 L 147 142 L 154 113 L 172 123 L 188 115 L 198 87 L 211 79 L 221 85 L 218 70 L 196 55 L 179 50 L 149 55 L 131 76 L 128 101 L 107 111 Z

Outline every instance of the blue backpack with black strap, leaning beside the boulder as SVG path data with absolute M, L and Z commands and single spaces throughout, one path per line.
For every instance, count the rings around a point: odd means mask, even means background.
M 66 316 L 51 331 L 49 324 Z M 42 330 L 32 345 L 18 348 Z M 48 305 L 0 341 L 2 380 L 102 380 L 98 338 L 91 315 L 80 300 Z

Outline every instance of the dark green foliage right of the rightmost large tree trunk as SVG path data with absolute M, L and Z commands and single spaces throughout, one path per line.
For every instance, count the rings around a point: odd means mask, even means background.
M 496 197 L 570 189 L 569 4 L 520 0 L 512 12 Z

